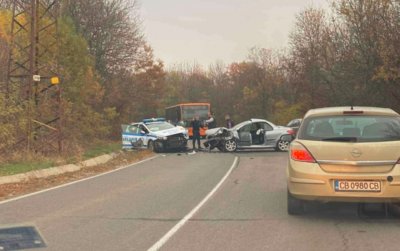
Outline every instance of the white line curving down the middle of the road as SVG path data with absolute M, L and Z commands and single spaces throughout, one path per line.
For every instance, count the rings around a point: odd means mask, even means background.
M 157 251 L 164 244 L 181 228 L 185 223 L 190 220 L 190 218 L 193 217 L 199 211 L 199 209 L 211 198 L 211 196 L 214 195 L 214 193 L 218 190 L 218 188 L 224 183 L 224 181 L 228 178 L 229 174 L 233 171 L 235 166 L 237 165 L 237 162 L 239 160 L 239 157 L 235 157 L 235 160 L 232 163 L 231 168 L 229 168 L 228 172 L 225 174 L 225 176 L 220 180 L 220 182 L 214 187 L 213 190 L 207 196 L 195 207 L 190 211 L 183 219 L 181 219 L 173 228 L 171 228 L 163 237 L 161 237 L 160 240 L 158 240 L 153 246 L 151 246 L 147 251 Z

